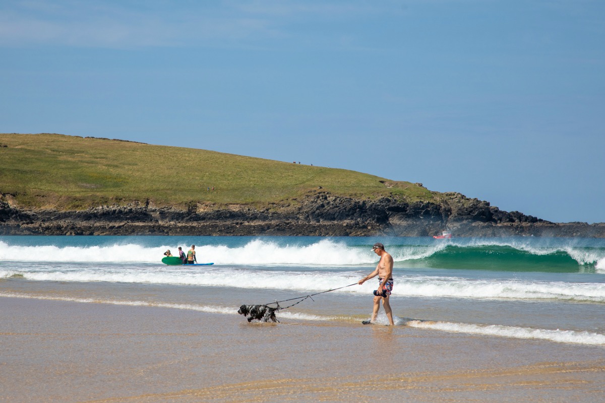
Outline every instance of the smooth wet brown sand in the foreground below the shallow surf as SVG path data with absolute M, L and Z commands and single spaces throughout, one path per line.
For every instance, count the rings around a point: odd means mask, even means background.
M 602 402 L 605 349 L 0 298 L 1 402 Z

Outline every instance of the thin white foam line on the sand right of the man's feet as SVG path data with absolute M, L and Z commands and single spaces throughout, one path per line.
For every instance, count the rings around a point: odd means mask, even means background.
M 591 344 L 593 346 L 605 345 L 605 335 L 578 330 L 532 329 L 531 327 L 503 326 L 500 324 L 483 325 L 420 320 L 409 320 L 406 321 L 405 324 L 407 324 L 407 326 L 442 330 L 445 332 L 549 340 L 556 341 L 557 343 Z

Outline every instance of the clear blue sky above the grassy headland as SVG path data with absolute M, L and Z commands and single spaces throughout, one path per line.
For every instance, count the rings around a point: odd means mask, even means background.
M 605 222 L 604 72 L 602 1 L 0 2 L 0 132 L 339 167 L 557 222 Z

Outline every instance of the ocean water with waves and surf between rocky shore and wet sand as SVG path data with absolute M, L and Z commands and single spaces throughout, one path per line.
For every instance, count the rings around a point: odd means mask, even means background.
M 242 304 L 307 298 L 283 323 L 362 326 L 374 242 L 394 258 L 396 327 L 605 346 L 605 240 L 511 237 L 0 237 L 0 297 L 179 309 L 242 321 Z M 166 266 L 195 244 L 198 262 Z M 355 284 L 355 285 L 353 285 Z M 281 303 L 286 306 L 298 300 Z M 2 298 L 0 298 L 0 305 Z M 379 322 L 387 319 L 379 315 Z

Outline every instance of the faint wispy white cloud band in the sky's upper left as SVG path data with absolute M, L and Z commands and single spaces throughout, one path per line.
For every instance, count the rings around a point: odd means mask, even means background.
M 221 10 L 218 10 L 221 11 Z M 0 7 L 0 45 L 149 47 L 204 44 L 277 31 L 263 18 L 195 7 L 125 7 L 96 2 L 24 2 Z

